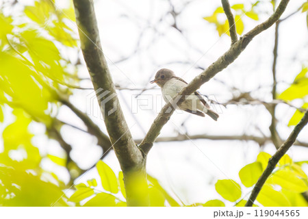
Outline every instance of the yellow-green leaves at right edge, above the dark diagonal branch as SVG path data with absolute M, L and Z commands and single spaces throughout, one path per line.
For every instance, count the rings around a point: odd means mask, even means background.
M 308 95 L 308 68 L 307 66 L 303 66 L 302 70 L 298 75 L 296 75 L 293 83 L 289 88 L 283 91 L 279 95 L 279 99 L 284 101 L 294 101 L 294 100 L 301 100 L 303 105 L 300 109 L 296 110 L 294 115 L 289 121 L 290 125 L 297 125 L 301 118 L 303 118 L 305 110 L 308 109 L 308 103 L 305 99 Z

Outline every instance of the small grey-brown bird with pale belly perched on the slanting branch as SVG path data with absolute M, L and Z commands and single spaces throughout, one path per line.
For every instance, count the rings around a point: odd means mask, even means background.
M 177 96 L 188 85 L 181 77 L 177 77 L 172 70 L 167 68 L 162 68 L 157 71 L 155 79 L 150 81 L 150 83 L 157 83 L 162 88 L 163 98 L 166 103 Z M 179 109 L 197 116 L 204 117 L 207 114 L 216 121 L 219 117 L 216 112 L 209 109 L 209 104 L 207 104 L 203 96 L 197 91 L 194 94 L 186 96 L 185 101 L 179 105 Z

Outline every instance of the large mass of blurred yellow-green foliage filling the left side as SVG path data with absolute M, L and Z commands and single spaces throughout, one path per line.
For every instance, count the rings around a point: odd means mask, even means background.
M 79 51 L 66 17 L 73 14 L 72 5 L 61 11 L 49 0 L 7 2 L 0 10 L 0 206 L 68 205 L 66 185 L 41 168 L 44 159 L 66 166 L 66 157 L 39 151 L 29 127 L 40 123 L 49 136 L 59 95 L 69 96 L 79 83 L 76 63 L 65 53 Z

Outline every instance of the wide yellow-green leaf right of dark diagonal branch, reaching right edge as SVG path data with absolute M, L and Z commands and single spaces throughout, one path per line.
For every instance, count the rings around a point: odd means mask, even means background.
M 296 173 L 287 170 L 286 168 L 278 170 L 272 176 L 268 178 L 268 182 L 272 184 L 280 185 L 285 190 L 292 192 L 305 192 L 308 190 L 308 185 L 296 176 Z

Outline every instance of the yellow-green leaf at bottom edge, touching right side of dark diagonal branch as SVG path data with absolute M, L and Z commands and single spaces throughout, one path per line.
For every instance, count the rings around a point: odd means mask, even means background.
M 257 196 L 257 201 L 264 207 L 287 207 L 291 206 L 290 201 L 287 200 L 282 192 L 278 192 L 267 183 L 261 189 Z

